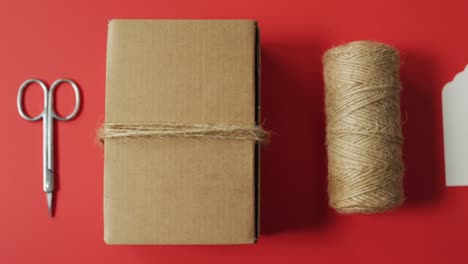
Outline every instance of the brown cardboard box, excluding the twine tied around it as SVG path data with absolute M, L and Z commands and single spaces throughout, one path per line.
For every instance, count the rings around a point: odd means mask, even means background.
M 259 120 L 251 20 L 111 20 L 106 122 Z M 258 146 L 182 138 L 105 142 L 107 244 L 240 244 L 258 235 Z

